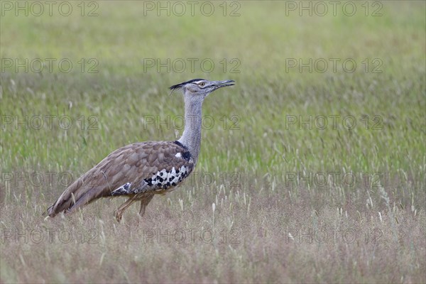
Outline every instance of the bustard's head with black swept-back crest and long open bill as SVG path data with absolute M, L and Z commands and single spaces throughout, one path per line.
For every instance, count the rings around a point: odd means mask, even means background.
M 233 85 L 234 80 L 209 81 L 204 79 L 193 79 L 180 84 L 175 84 L 170 87 L 170 89 L 172 91 L 182 89 L 185 99 L 201 99 L 202 101 L 211 92 L 214 92 L 215 90 L 222 87 L 228 87 Z

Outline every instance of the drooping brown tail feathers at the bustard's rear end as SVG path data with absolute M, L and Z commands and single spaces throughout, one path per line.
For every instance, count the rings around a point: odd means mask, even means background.
M 80 177 L 73 182 L 58 200 L 47 210 L 49 217 L 55 217 L 60 212 L 72 213 L 80 207 L 97 200 L 99 197 L 99 187 L 92 186 L 90 182 L 84 182 Z

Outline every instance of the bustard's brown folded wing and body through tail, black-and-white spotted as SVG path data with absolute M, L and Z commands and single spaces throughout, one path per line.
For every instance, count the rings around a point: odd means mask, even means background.
M 133 143 L 112 152 L 73 182 L 48 214 L 73 212 L 99 197 L 165 190 L 178 185 L 193 168 L 189 151 L 177 141 Z M 179 175 L 173 175 L 176 171 Z

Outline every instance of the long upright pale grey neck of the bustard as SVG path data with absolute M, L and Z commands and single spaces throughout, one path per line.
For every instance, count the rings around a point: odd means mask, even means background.
M 202 100 L 185 98 L 185 129 L 178 141 L 188 148 L 195 164 L 197 164 L 201 145 L 201 110 Z

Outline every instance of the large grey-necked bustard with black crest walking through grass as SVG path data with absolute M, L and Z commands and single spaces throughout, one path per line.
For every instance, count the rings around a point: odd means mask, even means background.
M 67 187 L 48 207 L 48 217 L 60 212 L 71 214 L 101 197 L 129 198 L 115 211 L 118 222 L 124 211 L 138 201 L 142 217 L 154 195 L 175 190 L 192 173 L 200 154 L 204 99 L 219 88 L 233 86 L 234 82 L 194 79 L 170 87 L 171 92 L 182 91 L 185 102 L 182 136 L 177 141 L 132 143 L 110 153 Z

